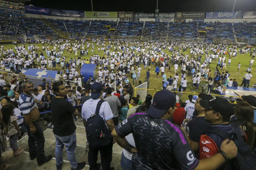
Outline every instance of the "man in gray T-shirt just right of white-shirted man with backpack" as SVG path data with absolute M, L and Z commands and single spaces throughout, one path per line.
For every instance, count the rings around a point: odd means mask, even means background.
M 109 106 L 114 116 L 112 119 L 113 119 L 114 125 L 116 126 L 118 125 L 118 108 L 117 107 L 121 106 L 121 103 L 117 96 L 111 96 L 111 93 L 112 93 L 111 87 L 107 87 L 105 92 L 107 97 L 104 98 L 104 100 L 106 100 L 109 103 Z

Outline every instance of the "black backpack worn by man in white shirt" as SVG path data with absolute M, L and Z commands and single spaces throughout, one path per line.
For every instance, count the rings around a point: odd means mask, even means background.
M 91 147 L 106 146 L 112 141 L 112 135 L 106 127 L 103 118 L 99 115 L 100 107 L 103 102 L 105 102 L 105 100 L 98 102 L 95 114 L 91 115 L 86 122 L 86 137 Z

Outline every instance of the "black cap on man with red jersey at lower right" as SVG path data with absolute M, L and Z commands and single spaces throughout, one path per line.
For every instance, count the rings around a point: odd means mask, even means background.
M 226 99 L 216 96 L 211 100 L 200 100 L 199 104 L 206 109 L 212 109 L 220 113 L 223 117 L 234 115 L 235 110 L 233 105 Z

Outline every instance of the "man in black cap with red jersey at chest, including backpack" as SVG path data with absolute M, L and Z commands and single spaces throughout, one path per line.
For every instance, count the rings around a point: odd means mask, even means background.
M 229 139 L 236 144 L 238 155 L 235 159 L 227 161 L 222 168 L 243 170 L 255 168 L 256 156 L 246 144 L 245 132 L 237 125 L 229 123 L 230 116 L 234 115 L 232 104 L 221 97 L 200 100 L 199 104 L 205 109 L 205 120 L 211 123 L 211 127 L 200 136 L 199 159 L 209 158 L 217 153 L 225 155 L 220 151 L 220 145 L 223 140 Z

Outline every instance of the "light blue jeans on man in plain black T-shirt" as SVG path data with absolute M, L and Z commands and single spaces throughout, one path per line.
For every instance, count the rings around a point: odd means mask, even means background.
M 69 136 L 58 136 L 55 135 L 56 138 L 56 148 L 55 148 L 55 156 L 56 156 L 56 164 L 60 165 L 63 163 L 62 151 L 64 145 L 66 146 L 68 160 L 72 166 L 72 168 L 77 168 L 77 159 L 75 155 L 75 149 L 77 146 L 77 136 L 76 132 Z

